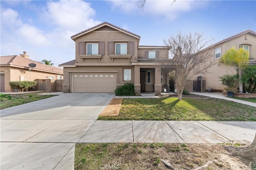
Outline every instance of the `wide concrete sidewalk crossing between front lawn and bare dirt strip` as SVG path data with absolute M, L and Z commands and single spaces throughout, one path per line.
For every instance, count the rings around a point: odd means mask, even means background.
M 244 143 L 253 141 L 256 122 L 96 121 L 84 142 Z

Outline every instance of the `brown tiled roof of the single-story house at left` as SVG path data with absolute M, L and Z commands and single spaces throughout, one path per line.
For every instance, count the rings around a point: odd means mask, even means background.
M 50 65 L 46 65 L 40 63 L 38 61 L 34 61 L 25 57 L 21 57 L 20 55 L 8 55 L 8 56 L 1 56 L 0 57 L 0 66 L 10 66 L 10 67 L 18 67 L 23 69 L 28 69 L 29 63 L 35 63 L 36 67 L 34 67 L 33 71 L 43 71 L 48 73 L 56 73 L 63 75 L 63 69 L 58 67 L 53 67 Z

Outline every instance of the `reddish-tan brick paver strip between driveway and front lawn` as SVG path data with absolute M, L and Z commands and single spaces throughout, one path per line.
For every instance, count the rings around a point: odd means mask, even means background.
M 118 116 L 123 99 L 112 99 L 106 108 L 100 113 L 100 116 Z

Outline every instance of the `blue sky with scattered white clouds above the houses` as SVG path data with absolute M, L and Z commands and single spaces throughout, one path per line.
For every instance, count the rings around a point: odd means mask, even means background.
M 30 59 L 54 66 L 75 58 L 70 36 L 109 22 L 141 36 L 140 45 L 164 45 L 181 32 L 204 33 L 219 42 L 244 30 L 256 30 L 256 1 L 0 1 L 0 55 L 26 51 Z

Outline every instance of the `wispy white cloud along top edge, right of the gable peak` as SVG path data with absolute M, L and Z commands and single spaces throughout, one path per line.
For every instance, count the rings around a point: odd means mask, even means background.
M 111 1 L 112 10 L 129 14 L 141 14 L 149 16 L 163 16 L 169 20 L 175 20 L 183 12 L 189 12 L 204 7 L 208 2 L 196 0 L 146 0 L 143 9 L 139 8 L 136 1 Z

